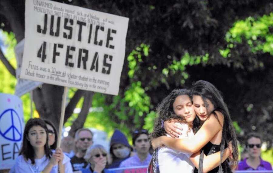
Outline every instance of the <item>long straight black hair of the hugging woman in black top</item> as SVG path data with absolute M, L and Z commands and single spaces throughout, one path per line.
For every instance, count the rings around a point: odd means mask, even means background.
M 221 163 L 224 154 L 224 147 L 228 145 L 228 142 L 232 142 L 233 148 L 233 159 L 232 165 L 236 166 L 238 164 L 238 147 L 237 147 L 237 138 L 235 134 L 235 130 L 229 115 L 229 111 L 227 105 L 224 103 L 224 99 L 222 97 L 221 92 L 210 82 L 199 80 L 195 82 L 191 87 L 191 95 L 199 95 L 202 97 L 206 107 L 207 107 L 207 99 L 211 101 L 214 105 L 214 111 L 219 111 L 224 115 L 224 125 L 221 139 Z M 214 113 L 214 111 L 212 113 Z M 208 112 L 210 113 L 210 112 Z M 215 117 L 218 119 L 217 115 L 214 113 Z M 219 120 L 218 120 L 219 121 Z M 220 123 L 220 122 L 219 122 Z M 201 158 L 201 157 L 200 157 Z M 201 161 L 202 162 L 202 161 Z M 201 165 L 202 168 L 203 165 Z M 200 168 L 200 167 L 199 167 Z M 219 166 L 219 171 L 221 172 L 221 165 Z

